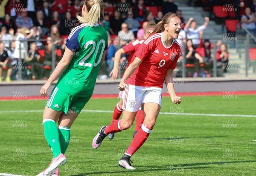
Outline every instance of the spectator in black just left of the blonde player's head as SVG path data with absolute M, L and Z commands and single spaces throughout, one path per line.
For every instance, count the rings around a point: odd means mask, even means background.
M 61 23 L 61 34 L 69 35 L 73 28 L 77 25 L 77 21 L 71 17 L 71 13 L 69 11 L 66 12 L 66 17 Z

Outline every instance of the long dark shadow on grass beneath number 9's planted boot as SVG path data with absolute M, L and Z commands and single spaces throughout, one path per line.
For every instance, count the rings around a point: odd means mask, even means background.
M 144 166 L 141 166 L 144 167 Z M 147 166 L 146 166 L 147 167 Z M 163 168 L 166 167 L 166 168 Z M 159 169 L 161 168 L 161 169 Z M 133 172 L 133 173 L 140 173 L 140 172 L 146 172 L 146 171 L 170 171 L 170 173 L 172 172 L 179 172 L 182 170 L 187 170 L 187 169 L 206 169 L 206 168 L 211 168 L 211 167 L 171 167 L 171 165 L 165 165 L 165 166 L 151 166 L 151 169 L 140 169 L 139 170 L 126 170 L 123 168 L 116 168 L 118 169 L 118 171 L 110 171 L 110 172 L 93 172 L 93 173 L 79 173 L 78 175 L 71 175 L 71 176 L 88 176 L 88 175 L 98 175 L 98 174 L 104 174 L 104 173 L 127 173 L 127 172 Z

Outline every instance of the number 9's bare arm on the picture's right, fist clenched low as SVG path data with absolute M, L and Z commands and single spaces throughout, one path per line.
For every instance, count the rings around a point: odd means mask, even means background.
M 171 70 L 171 69 L 167 70 L 166 77 L 164 78 L 164 81 L 165 81 L 166 87 L 169 91 L 169 94 L 171 96 L 172 102 L 178 105 L 181 102 L 181 97 L 177 97 L 175 94 L 173 78 L 172 78 L 172 71 L 173 70 Z

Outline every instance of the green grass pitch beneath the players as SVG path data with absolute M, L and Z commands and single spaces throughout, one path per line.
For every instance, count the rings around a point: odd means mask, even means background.
M 112 141 L 106 138 L 94 150 L 93 137 L 111 122 L 112 113 L 81 112 L 71 128 L 67 164 L 59 168 L 60 175 L 255 176 L 256 117 L 235 116 L 255 116 L 255 100 L 256 95 L 182 97 L 182 103 L 175 105 L 164 97 L 161 112 L 181 115 L 158 116 L 148 140 L 131 158 L 137 170 L 118 167 L 131 143 L 134 126 L 116 133 Z M 0 173 L 35 176 L 51 161 L 43 112 L 29 112 L 43 110 L 46 101 L 0 102 Z M 113 111 L 117 102 L 91 99 L 84 109 Z

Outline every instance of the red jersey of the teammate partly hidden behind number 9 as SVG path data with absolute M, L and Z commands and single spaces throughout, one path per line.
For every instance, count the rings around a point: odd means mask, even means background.
M 134 61 L 134 54 L 135 52 L 140 48 L 140 45 L 144 42 L 144 40 L 135 40 L 132 43 L 129 43 L 128 45 L 125 45 L 122 47 L 122 49 L 125 51 L 126 54 L 130 53 L 127 61 L 126 68 L 130 65 L 131 62 Z

